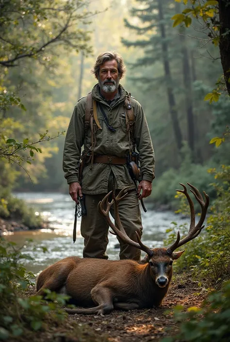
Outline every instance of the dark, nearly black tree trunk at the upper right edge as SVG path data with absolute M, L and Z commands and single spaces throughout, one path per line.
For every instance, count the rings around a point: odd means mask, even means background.
M 230 0 L 219 0 L 220 58 L 224 79 L 230 95 Z

